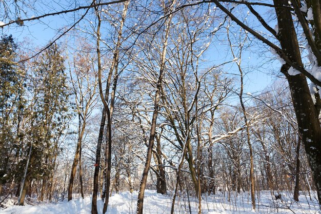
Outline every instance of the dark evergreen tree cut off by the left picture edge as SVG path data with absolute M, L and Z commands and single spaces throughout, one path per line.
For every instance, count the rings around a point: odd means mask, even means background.
M 12 35 L 0 41 L 0 194 L 2 186 L 12 180 L 15 160 L 23 138 L 21 120 L 26 100 L 25 73 L 14 65 L 17 46 Z

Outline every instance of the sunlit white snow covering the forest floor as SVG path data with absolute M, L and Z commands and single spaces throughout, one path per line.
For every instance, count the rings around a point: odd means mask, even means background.
M 312 201 L 309 196 L 303 194 L 299 197 L 299 202 L 294 202 L 291 193 L 282 193 L 283 202 L 280 200 L 273 200 L 271 193 L 268 191 L 260 192 L 259 200 L 256 201 L 256 213 L 321 213 L 320 207 L 317 204 L 315 196 L 312 195 Z M 137 192 L 129 193 L 122 192 L 113 194 L 110 198 L 107 213 L 110 214 L 127 214 L 135 213 Z M 144 198 L 144 213 L 170 213 L 171 196 L 163 196 L 157 194 L 154 190 L 146 190 Z M 197 213 L 198 201 L 195 198 L 190 199 L 191 213 Z M 25 205 L 14 206 L 12 200 L 6 204 L 8 208 L 1 210 L 2 214 L 89 214 L 91 213 L 91 198 L 75 199 L 70 202 L 63 201 L 57 204 L 39 204 L 39 205 Z M 11 205 L 11 206 L 10 206 Z M 98 211 L 102 213 L 103 202 L 98 200 Z M 253 213 L 251 209 L 250 198 L 247 193 L 230 195 L 218 193 L 215 196 L 203 196 L 202 213 L 216 214 L 216 213 Z M 188 198 L 186 196 L 176 198 L 175 213 L 190 213 Z

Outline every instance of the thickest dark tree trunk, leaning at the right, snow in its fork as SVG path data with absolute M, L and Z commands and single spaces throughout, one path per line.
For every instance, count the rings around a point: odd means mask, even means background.
M 279 28 L 279 40 L 282 50 L 297 65 L 303 67 L 300 56 L 297 35 L 290 10 L 282 9 L 288 6 L 287 0 L 274 0 Z M 318 119 L 319 108 L 313 104 L 305 75 L 289 75 L 290 66 L 285 64 L 281 72 L 287 77 L 291 90 L 292 103 L 295 110 L 299 133 L 305 146 L 309 165 L 312 170 L 316 192 L 321 204 L 321 127 Z

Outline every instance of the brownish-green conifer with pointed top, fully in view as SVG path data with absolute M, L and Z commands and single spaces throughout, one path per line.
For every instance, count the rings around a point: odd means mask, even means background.
M 33 99 L 31 120 L 27 135 L 32 146 L 26 183 L 22 198 L 32 179 L 42 180 L 41 200 L 50 184 L 47 182 L 53 170 L 58 152 L 58 139 L 69 119 L 69 90 L 65 74 L 64 57 L 58 45 L 48 48 L 34 62 L 32 76 Z M 29 150 L 26 150 L 29 151 Z M 25 155 L 25 157 L 28 157 Z M 49 179 L 50 180 L 50 179 Z M 21 201 L 23 204 L 23 200 Z

